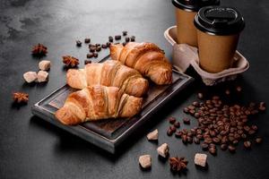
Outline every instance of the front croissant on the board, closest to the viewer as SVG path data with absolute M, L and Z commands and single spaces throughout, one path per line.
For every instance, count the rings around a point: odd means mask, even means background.
M 106 118 L 132 117 L 139 113 L 143 98 L 121 93 L 117 87 L 88 86 L 71 93 L 56 111 L 62 124 L 74 125 Z

